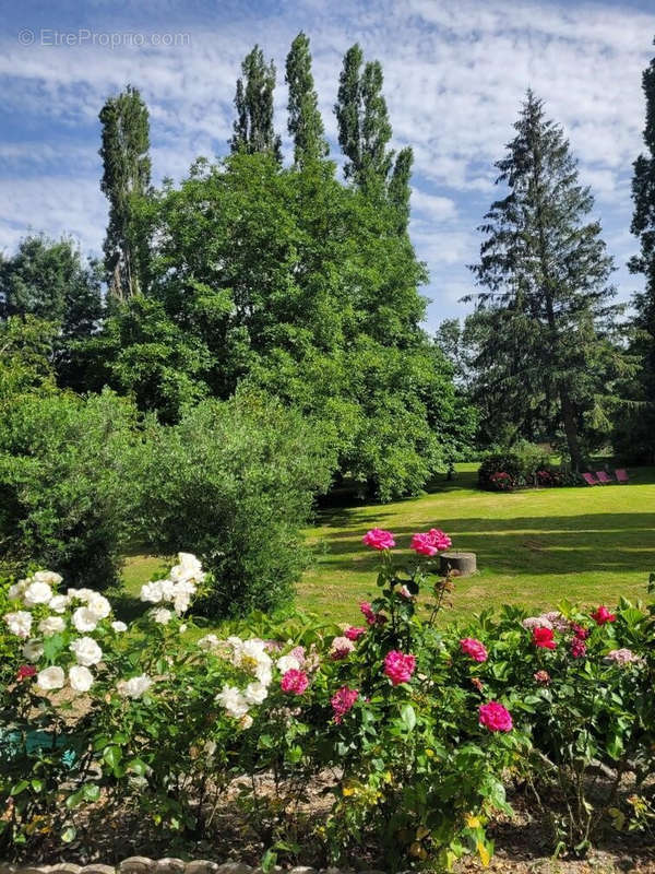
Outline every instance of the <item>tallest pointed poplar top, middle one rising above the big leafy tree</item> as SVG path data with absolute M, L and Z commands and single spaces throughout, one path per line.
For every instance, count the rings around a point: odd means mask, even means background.
M 302 31 L 287 55 L 285 81 L 289 88 L 288 131 L 294 139 L 294 163 L 302 167 L 325 157 L 330 151 L 311 73 L 309 38 Z

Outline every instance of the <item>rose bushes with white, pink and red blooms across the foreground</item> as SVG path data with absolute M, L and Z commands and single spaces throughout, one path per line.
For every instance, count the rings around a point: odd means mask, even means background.
M 184 553 L 143 586 L 146 611 L 129 626 L 104 595 L 63 590 L 49 571 L 0 593 L 11 665 L 0 852 L 61 852 L 126 807 L 180 839 L 211 839 L 231 799 L 262 850 L 295 859 L 298 811 L 325 775 L 331 811 L 303 834 L 342 863 L 366 846 L 390 869 L 450 866 L 465 852 L 486 864 L 485 824 L 511 813 L 509 775 L 531 788 L 556 842 L 579 852 L 608 817 L 645 822 L 651 613 L 627 601 L 538 616 L 505 607 L 440 628 L 454 586 L 434 558 L 450 538 L 415 534 L 407 565 L 395 540 L 365 539 L 381 567 L 362 626 L 255 614 L 225 637 L 200 634 L 186 614 L 207 581 Z

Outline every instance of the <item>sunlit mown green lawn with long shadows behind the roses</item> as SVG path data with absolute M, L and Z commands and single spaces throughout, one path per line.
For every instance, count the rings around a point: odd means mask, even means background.
M 586 604 L 642 597 L 655 570 L 655 469 L 630 471 L 629 485 L 478 492 L 477 464 L 458 465 L 453 482 L 428 495 L 376 506 L 324 510 L 307 531 L 313 566 L 298 589 L 298 605 L 321 617 L 355 621 L 357 604 L 376 593 L 378 556 L 361 544 L 376 525 L 406 547 L 414 531 L 442 528 L 453 547 L 477 553 L 479 571 L 457 581 L 454 610 L 523 602 L 550 607 L 569 598 Z M 134 556 L 127 589 L 160 566 Z

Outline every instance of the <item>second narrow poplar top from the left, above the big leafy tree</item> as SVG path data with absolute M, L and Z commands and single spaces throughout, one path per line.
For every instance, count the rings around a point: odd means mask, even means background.
M 275 64 L 266 63 L 264 52 L 255 45 L 243 58 L 241 73 L 235 95 L 237 118 L 229 141 L 231 151 L 270 153 L 282 163 L 282 140 L 273 129 Z

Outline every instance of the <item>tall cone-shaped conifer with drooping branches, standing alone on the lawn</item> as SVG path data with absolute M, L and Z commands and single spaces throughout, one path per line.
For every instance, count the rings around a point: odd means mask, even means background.
M 607 374 L 617 352 L 606 334 L 618 311 L 609 304 L 614 265 L 600 225 L 588 218 L 593 197 L 579 181 L 569 142 L 531 91 L 514 127 L 496 165 L 508 192 L 485 216 L 472 268 L 486 288 L 476 296 L 486 323 L 478 371 L 499 415 L 512 410 L 523 433 L 555 411 L 551 435 L 562 426 L 579 470 L 585 428 L 616 401 Z

